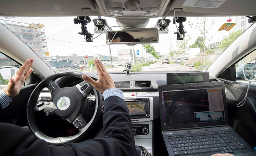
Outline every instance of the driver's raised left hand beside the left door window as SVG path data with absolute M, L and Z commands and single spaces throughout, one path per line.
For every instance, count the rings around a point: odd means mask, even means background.
M 16 74 L 14 74 L 13 77 L 9 79 L 7 86 L 3 89 L 6 95 L 13 97 L 19 94 L 22 85 L 33 71 L 31 68 L 33 61 L 33 58 L 27 59 L 27 61 L 16 72 Z

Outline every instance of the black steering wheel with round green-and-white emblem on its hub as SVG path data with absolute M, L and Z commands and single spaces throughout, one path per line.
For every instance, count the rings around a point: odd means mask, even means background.
M 83 81 L 76 86 L 67 88 L 60 88 L 58 84 L 54 82 L 54 80 L 58 79 L 59 77 L 75 76 L 82 78 L 82 75 L 83 73 L 77 71 L 59 72 L 45 78 L 36 86 L 28 100 L 27 121 L 28 126 L 30 127 L 32 132 L 34 132 L 37 138 L 43 139 L 54 145 L 63 145 L 68 142 L 75 142 L 80 140 L 82 137 L 88 134 L 95 126 L 101 114 L 101 93 L 86 81 Z M 98 78 L 96 74 L 90 74 L 89 76 L 91 76 L 94 80 L 97 80 Z M 50 112 L 54 111 L 54 113 L 56 113 L 59 117 L 67 120 L 69 123 L 73 124 L 76 128 L 78 128 L 78 134 L 70 137 L 53 138 L 45 135 L 37 127 L 34 110 L 36 104 L 38 104 L 37 100 L 39 94 L 45 87 L 48 87 L 48 90 L 50 91 L 53 99 L 53 104 L 48 104 L 47 109 L 50 109 Z M 84 110 L 89 109 L 87 96 L 89 95 L 89 93 L 91 93 L 92 90 L 95 93 L 95 109 L 91 120 L 89 120 L 89 122 L 87 123 L 85 122 L 82 115 L 85 112 Z

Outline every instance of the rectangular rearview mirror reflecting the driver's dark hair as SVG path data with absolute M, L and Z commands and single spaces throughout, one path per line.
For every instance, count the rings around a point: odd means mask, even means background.
M 109 30 L 106 35 L 107 44 L 127 44 L 131 46 L 144 43 L 158 43 L 158 41 L 157 28 Z

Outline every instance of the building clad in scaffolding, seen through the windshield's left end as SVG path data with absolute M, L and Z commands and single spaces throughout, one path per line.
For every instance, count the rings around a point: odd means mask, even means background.
M 19 39 L 21 39 L 28 47 L 30 47 L 44 61 L 49 60 L 47 56 L 48 48 L 45 37 L 43 24 L 37 23 L 22 23 L 10 20 L 1 20 L 6 28 L 12 31 Z

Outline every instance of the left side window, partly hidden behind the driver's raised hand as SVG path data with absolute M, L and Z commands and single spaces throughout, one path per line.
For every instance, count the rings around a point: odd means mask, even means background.
M 0 53 L 0 89 L 3 89 L 7 85 L 9 79 L 19 68 L 20 65 L 18 63 Z

